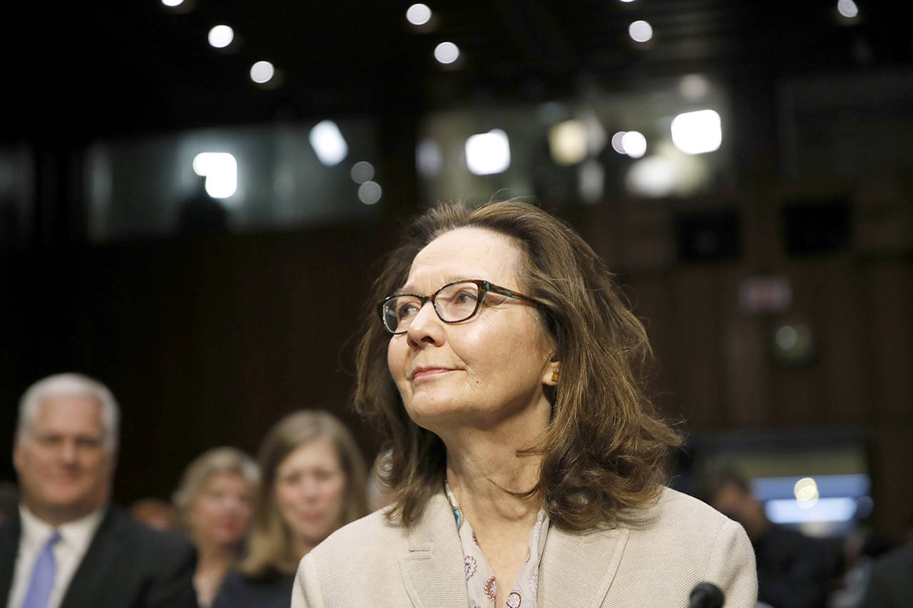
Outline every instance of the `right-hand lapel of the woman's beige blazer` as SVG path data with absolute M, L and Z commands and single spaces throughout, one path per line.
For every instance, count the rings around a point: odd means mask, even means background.
M 628 529 L 565 532 L 551 527 L 539 568 L 540 608 L 596 608 L 618 570 Z

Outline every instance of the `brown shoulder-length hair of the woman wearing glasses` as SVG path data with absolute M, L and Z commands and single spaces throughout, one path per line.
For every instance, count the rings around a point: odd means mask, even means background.
M 418 519 L 443 485 L 446 449 L 405 412 L 387 369 L 390 333 L 375 303 L 404 284 L 422 248 L 464 226 L 516 239 L 527 261 L 518 268 L 520 288 L 539 303 L 561 362 L 551 425 L 519 452 L 542 456 L 530 494 L 539 493 L 551 521 L 571 530 L 611 524 L 622 509 L 656 499 L 666 482 L 666 451 L 680 438 L 645 396 L 642 374 L 653 353 L 603 260 L 571 227 L 531 204 L 451 203 L 417 217 L 387 257 L 356 355 L 355 407 L 381 435 L 382 449 L 391 450 L 384 481 L 399 498 L 389 516 L 406 526 Z

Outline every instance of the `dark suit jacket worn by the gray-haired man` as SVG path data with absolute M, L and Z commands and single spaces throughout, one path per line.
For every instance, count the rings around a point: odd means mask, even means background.
M 0 526 L 0 602 L 9 601 L 19 516 Z M 60 608 L 196 608 L 196 553 L 173 534 L 146 528 L 108 508 Z

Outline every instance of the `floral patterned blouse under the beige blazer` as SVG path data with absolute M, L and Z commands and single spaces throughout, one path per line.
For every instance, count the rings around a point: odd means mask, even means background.
M 456 519 L 456 530 L 459 533 L 460 544 L 463 546 L 464 562 L 466 563 L 466 588 L 469 597 L 468 608 L 495 608 L 495 597 L 498 593 L 498 582 L 495 573 L 488 565 L 482 548 L 478 546 L 476 533 L 469 527 L 469 522 L 463 519 L 463 512 L 456 504 L 456 497 L 450 491 L 450 485 L 445 482 L 447 498 L 450 508 L 453 508 Z M 539 563 L 542 559 L 542 549 L 545 547 L 545 537 L 549 531 L 549 516 L 545 509 L 539 509 L 536 524 L 530 531 L 530 553 L 526 561 L 517 572 L 517 580 L 513 583 L 507 596 L 508 608 L 536 608 L 536 587 L 539 583 Z

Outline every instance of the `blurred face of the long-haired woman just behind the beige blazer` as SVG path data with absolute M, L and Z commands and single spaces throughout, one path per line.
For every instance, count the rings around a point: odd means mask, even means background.
M 326 437 L 299 446 L 279 463 L 276 503 L 301 544 L 316 546 L 341 527 L 346 476 Z

